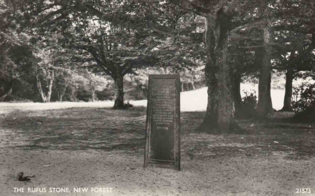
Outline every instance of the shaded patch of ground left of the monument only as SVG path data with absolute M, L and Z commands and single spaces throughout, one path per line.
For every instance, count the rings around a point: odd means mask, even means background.
M 139 110 L 70 108 L 12 112 L 1 119 L 14 140 L 49 149 L 133 149 L 144 144 L 146 113 Z M 120 134 L 132 137 L 119 137 Z M 12 139 L 7 138 L 6 142 Z M 101 142 L 100 142 L 101 141 Z M 34 148 L 31 148 L 34 149 Z

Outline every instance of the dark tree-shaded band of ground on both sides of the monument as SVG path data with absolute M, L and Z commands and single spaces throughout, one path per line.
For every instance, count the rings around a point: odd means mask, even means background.
M 191 159 L 222 156 L 268 156 L 284 153 L 290 159 L 315 155 L 315 124 L 299 123 L 284 113 L 265 121 L 238 120 L 248 134 L 197 133 L 205 112 L 182 112 L 181 152 Z M 143 153 L 146 108 L 128 110 L 69 108 L 16 110 L 0 118 L 1 148 L 25 150 L 123 150 Z

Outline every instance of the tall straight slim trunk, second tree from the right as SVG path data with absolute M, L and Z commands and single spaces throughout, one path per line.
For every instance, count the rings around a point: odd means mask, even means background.
M 272 102 L 270 95 L 270 82 L 271 82 L 271 35 L 269 24 L 264 26 L 264 50 L 260 75 L 258 84 L 258 104 L 257 104 L 257 116 L 259 118 L 265 118 L 268 114 L 272 113 Z M 260 55 L 260 54 L 259 54 Z

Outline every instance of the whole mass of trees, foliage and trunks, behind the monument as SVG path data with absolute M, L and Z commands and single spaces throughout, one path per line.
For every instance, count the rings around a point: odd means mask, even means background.
M 239 132 L 244 77 L 259 78 L 257 117 L 265 118 L 272 72 L 285 72 L 283 110 L 292 110 L 292 80 L 314 71 L 314 9 L 307 0 L 4 0 L 0 101 L 21 89 L 34 101 L 76 100 L 86 85 L 90 100 L 99 91 L 123 109 L 126 81 L 140 89 L 143 70 L 166 70 L 181 75 L 182 90 L 208 86 L 199 130 Z M 80 74 L 90 82 L 75 80 Z M 100 77 L 113 82 L 96 90 Z

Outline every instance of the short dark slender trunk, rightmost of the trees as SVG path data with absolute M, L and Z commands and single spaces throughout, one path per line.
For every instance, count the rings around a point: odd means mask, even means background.
M 293 74 L 293 69 L 291 67 L 288 67 L 287 72 L 285 73 L 285 93 L 283 108 L 281 109 L 281 111 L 293 111 L 291 106 Z

